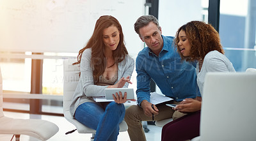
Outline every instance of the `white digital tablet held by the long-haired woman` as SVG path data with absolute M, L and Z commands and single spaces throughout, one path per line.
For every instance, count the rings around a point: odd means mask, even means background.
M 132 88 L 107 88 L 107 89 L 105 89 L 106 99 L 113 100 L 112 94 L 116 95 L 116 93 L 119 94 L 119 92 L 122 92 L 123 98 L 124 98 L 124 93 L 126 92 L 127 100 L 134 99 L 134 91 Z

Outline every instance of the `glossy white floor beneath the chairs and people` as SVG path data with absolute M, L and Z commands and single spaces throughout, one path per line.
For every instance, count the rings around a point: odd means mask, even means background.
M 65 117 L 53 116 L 53 115 L 35 115 L 35 114 L 23 114 L 16 112 L 4 112 L 6 117 L 20 118 L 20 119 L 44 119 L 47 121 L 54 122 L 60 128 L 58 133 L 54 135 L 49 141 L 70 141 L 70 140 L 90 140 L 91 134 L 79 134 L 77 131 L 74 133 L 65 135 L 67 131 L 74 130 L 75 127 L 68 122 Z M 148 125 L 148 129 L 150 130 L 148 133 L 145 133 L 147 137 L 147 141 L 158 141 L 161 140 L 161 128 L 154 125 Z M 0 135 L 1 141 L 10 141 L 12 135 Z M 12 139 L 13 141 L 15 138 Z M 118 141 L 129 141 L 129 135 L 127 131 L 120 132 L 118 135 Z M 20 136 L 20 141 L 38 141 L 38 139 L 29 137 L 26 135 Z

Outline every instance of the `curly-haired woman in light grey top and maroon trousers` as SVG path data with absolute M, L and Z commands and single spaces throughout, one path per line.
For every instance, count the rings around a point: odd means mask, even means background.
M 197 61 L 197 84 L 202 96 L 207 72 L 235 71 L 232 63 L 224 56 L 218 32 L 210 24 L 200 21 L 188 22 L 179 28 L 175 37 L 175 45 L 180 57 L 185 61 Z M 164 125 L 162 141 L 190 140 L 198 137 L 201 100 L 187 98 L 173 110 L 187 115 Z

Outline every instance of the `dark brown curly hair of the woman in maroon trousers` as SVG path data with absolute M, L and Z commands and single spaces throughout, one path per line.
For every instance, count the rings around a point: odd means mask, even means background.
M 188 57 L 183 56 L 179 49 L 179 33 L 181 30 L 186 33 L 186 37 L 191 44 L 190 55 Z M 186 61 L 204 59 L 205 55 L 212 50 L 217 50 L 221 54 L 224 54 L 219 33 L 211 24 L 200 21 L 191 21 L 179 28 L 175 35 L 175 47 L 177 47 L 182 60 Z

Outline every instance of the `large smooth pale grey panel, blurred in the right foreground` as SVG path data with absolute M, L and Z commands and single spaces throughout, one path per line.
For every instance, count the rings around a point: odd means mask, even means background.
M 207 73 L 201 140 L 255 140 L 256 73 Z

